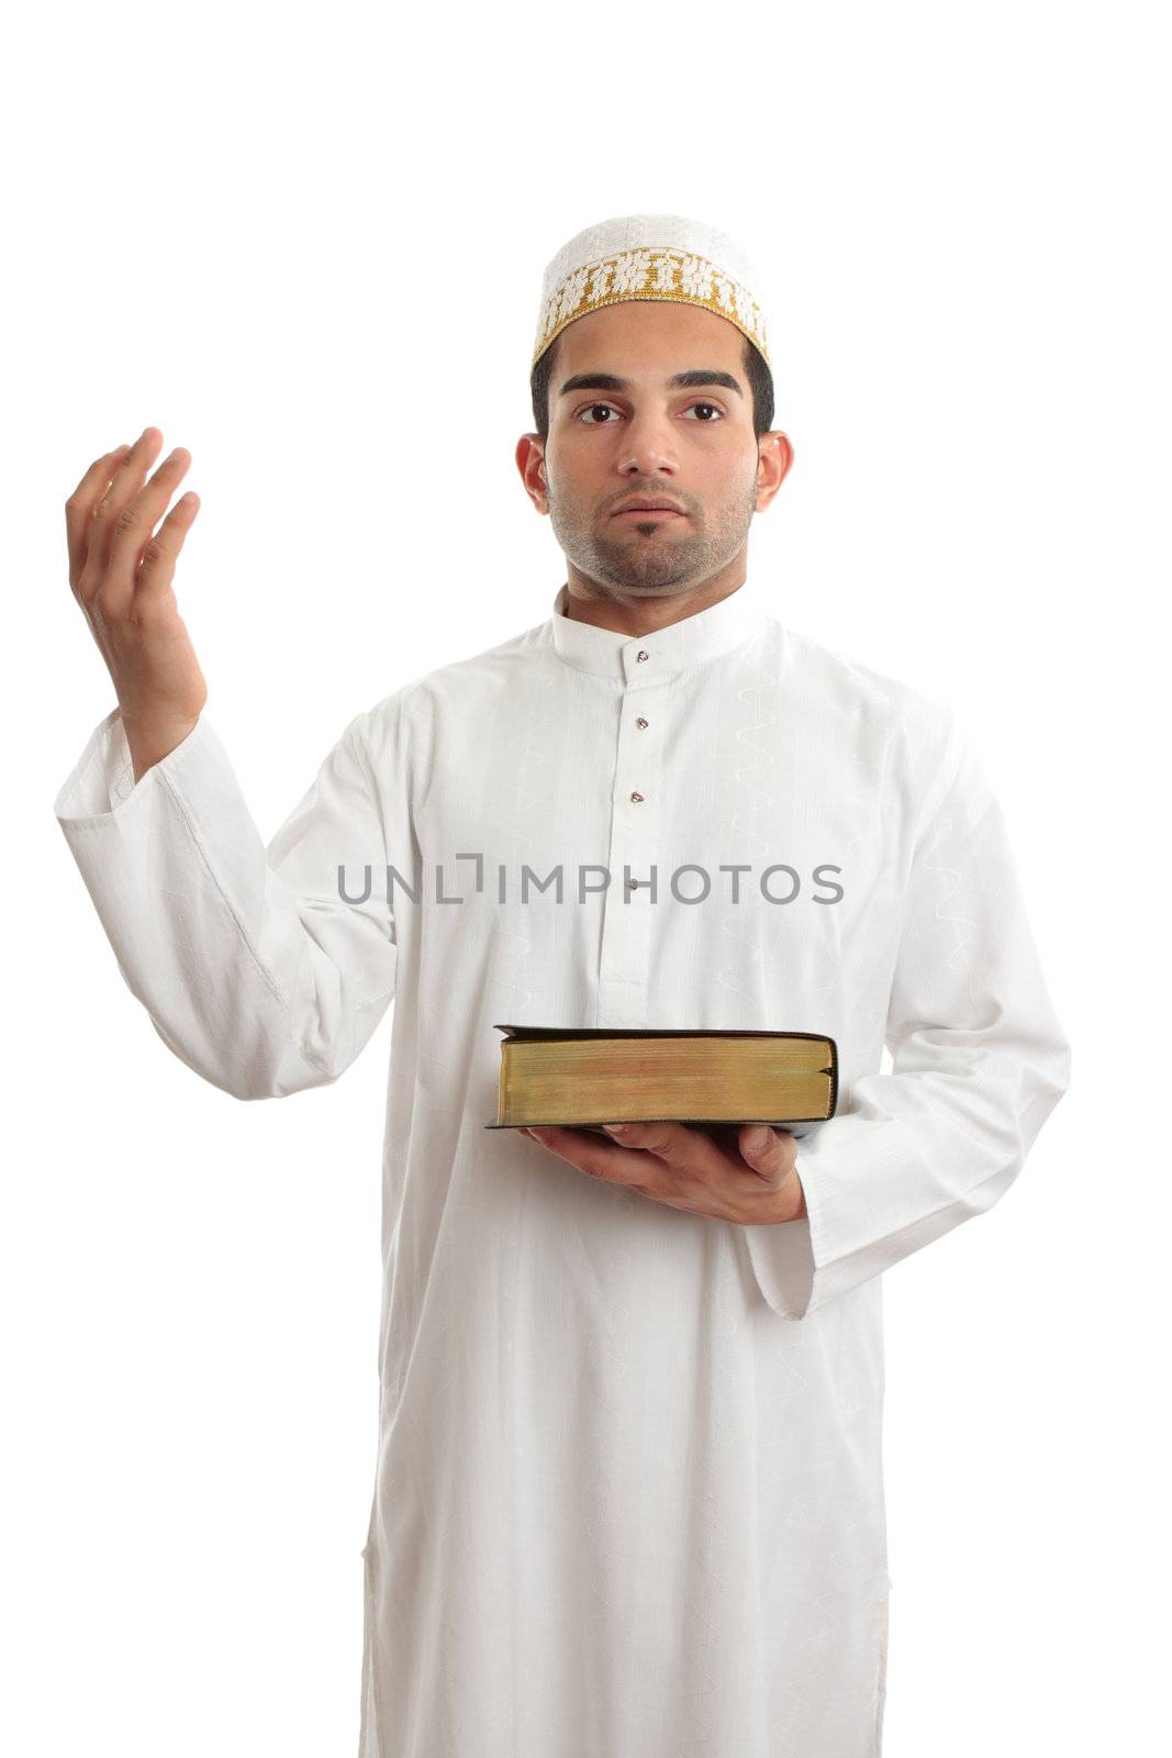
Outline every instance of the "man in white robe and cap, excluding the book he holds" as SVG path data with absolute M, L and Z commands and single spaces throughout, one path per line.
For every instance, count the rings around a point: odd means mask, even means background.
M 358 714 L 267 847 L 172 592 L 193 512 L 151 536 L 188 454 L 146 480 L 148 427 L 67 506 L 118 707 L 56 814 L 156 1030 L 264 1099 L 395 1000 L 364 1758 L 879 1753 L 882 1273 L 1068 1081 L 952 714 L 749 577 L 792 459 L 757 290 L 680 216 L 557 253 L 517 447 L 553 612 Z M 838 1115 L 490 1130 L 503 1023 L 829 1035 Z

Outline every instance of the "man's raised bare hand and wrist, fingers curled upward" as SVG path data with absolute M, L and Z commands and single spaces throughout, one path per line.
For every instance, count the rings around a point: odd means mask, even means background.
M 114 684 L 134 777 L 174 751 L 195 728 L 207 684 L 172 591 L 199 496 L 170 498 L 192 464 L 183 447 L 148 471 L 158 427 L 93 461 L 65 503 L 69 584 Z

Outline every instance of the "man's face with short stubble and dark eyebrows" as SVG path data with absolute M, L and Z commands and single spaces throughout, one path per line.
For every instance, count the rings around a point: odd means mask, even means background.
M 603 306 L 559 336 L 541 482 L 566 559 L 603 592 L 691 591 L 743 548 L 759 505 L 743 353 L 726 318 L 669 301 Z M 619 510 L 640 499 L 675 510 Z

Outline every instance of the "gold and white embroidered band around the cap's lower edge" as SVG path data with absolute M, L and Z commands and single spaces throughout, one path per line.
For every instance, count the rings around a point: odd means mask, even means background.
M 529 364 L 532 366 L 575 318 L 597 311 L 599 306 L 620 304 L 624 299 L 675 299 L 685 306 L 706 306 L 708 311 L 734 323 L 761 350 L 766 366 L 771 364 L 764 339 L 764 313 L 749 288 L 717 269 L 706 257 L 669 248 L 624 250 L 564 274 L 541 306 L 538 343 Z

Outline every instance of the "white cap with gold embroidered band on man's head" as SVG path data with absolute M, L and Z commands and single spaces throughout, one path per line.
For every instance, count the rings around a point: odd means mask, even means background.
M 603 220 L 562 244 L 546 265 L 531 367 L 575 318 L 624 299 L 706 306 L 734 323 L 771 366 L 759 292 L 761 278 L 743 248 L 703 220 Z

